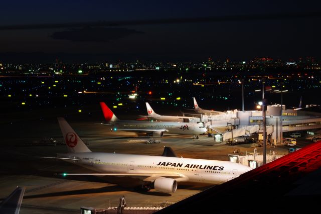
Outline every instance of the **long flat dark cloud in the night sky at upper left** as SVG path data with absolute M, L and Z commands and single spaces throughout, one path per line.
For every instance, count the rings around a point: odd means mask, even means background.
M 109 42 L 133 34 L 143 32 L 126 28 L 92 28 L 71 29 L 68 31 L 55 32 L 51 35 L 53 39 L 69 40 L 75 42 Z

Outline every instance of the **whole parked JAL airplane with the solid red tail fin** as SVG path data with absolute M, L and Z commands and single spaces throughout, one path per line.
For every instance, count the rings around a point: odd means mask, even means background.
M 105 102 L 100 102 L 100 106 L 105 120 L 109 122 L 104 125 L 112 125 L 114 131 L 141 132 L 153 137 L 162 137 L 164 133 L 198 136 L 207 131 L 203 123 L 121 121 L 112 113 Z

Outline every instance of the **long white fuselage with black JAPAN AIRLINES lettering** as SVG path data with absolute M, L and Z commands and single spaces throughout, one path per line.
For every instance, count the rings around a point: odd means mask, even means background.
M 239 176 L 250 167 L 239 163 L 164 156 L 130 155 L 99 152 L 59 154 L 78 158 L 77 165 L 100 173 L 177 173 L 179 181 L 220 184 Z

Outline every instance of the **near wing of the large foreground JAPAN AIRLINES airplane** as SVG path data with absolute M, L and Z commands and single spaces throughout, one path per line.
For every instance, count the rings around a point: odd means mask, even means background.
M 110 172 L 106 172 L 106 173 L 59 173 L 56 175 L 63 175 L 63 176 L 67 176 L 67 175 L 94 175 L 94 176 L 130 176 L 130 177 L 145 177 L 143 180 L 144 181 L 150 181 L 153 182 L 156 178 L 162 178 L 162 177 L 170 177 L 173 179 L 178 179 L 180 178 L 180 181 L 188 181 L 189 178 L 179 174 L 179 173 L 110 173 Z

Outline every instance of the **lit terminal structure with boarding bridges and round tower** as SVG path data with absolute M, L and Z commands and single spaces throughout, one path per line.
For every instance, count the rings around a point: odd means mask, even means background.
M 262 111 L 230 111 L 225 115 L 202 115 L 201 120 L 214 134 L 215 141 L 228 141 L 238 136 L 263 133 Z M 266 139 L 272 145 L 282 142 L 283 133 L 321 129 L 321 108 L 310 106 L 286 110 L 285 105 L 267 105 L 265 111 Z

